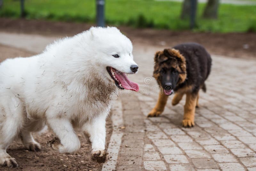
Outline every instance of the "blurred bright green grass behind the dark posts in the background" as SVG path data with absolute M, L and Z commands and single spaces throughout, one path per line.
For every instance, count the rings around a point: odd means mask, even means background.
M 221 4 L 218 19 L 202 19 L 205 4 L 199 4 L 194 31 L 256 32 L 256 6 Z M 95 22 L 95 0 L 25 0 L 27 19 Z M 106 0 L 108 25 L 187 30 L 189 21 L 180 19 L 181 3 L 154 0 Z M 0 16 L 18 18 L 20 3 L 5 0 Z

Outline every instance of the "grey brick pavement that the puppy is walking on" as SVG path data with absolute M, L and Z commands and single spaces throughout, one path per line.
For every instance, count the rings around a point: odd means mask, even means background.
M 102 170 L 256 170 L 256 61 L 212 56 L 207 93 L 200 92 L 196 109 L 196 126 L 182 128 L 184 98 L 172 106 L 171 96 L 160 117 L 146 117 L 158 97 L 150 90 L 156 85 L 153 54 L 161 49 L 134 43 L 140 69 L 129 77 L 141 89 L 130 95 L 121 92 L 112 108 L 111 158 Z

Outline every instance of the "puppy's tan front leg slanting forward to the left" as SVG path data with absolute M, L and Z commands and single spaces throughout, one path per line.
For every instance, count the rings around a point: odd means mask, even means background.
M 164 106 L 166 105 L 168 96 L 164 93 L 160 93 L 156 106 L 148 113 L 148 117 L 159 116 L 164 111 Z

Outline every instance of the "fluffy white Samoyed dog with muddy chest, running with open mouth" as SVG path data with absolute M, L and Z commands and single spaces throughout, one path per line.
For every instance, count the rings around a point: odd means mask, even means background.
M 61 153 L 76 152 L 80 128 L 92 144 L 92 159 L 106 159 L 106 117 L 117 89 L 139 91 L 132 43 L 116 27 L 91 27 L 56 41 L 43 53 L 0 63 L 0 165 L 17 167 L 7 152 L 15 138 L 39 151 L 32 132 L 45 125 L 56 134 L 49 142 Z

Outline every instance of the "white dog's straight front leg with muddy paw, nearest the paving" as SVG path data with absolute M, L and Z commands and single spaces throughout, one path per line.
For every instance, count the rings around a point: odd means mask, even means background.
M 105 162 L 105 141 L 106 141 L 106 117 L 107 113 L 94 118 L 91 123 L 83 126 L 83 131 L 88 133 L 92 142 L 92 159 L 98 162 Z

